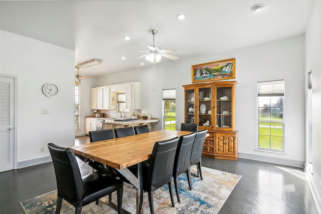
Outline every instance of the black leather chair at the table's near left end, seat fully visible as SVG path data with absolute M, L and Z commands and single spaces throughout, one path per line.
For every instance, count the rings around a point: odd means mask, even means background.
M 60 213 L 62 200 L 65 199 L 81 213 L 82 207 L 99 198 L 117 191 L 117 208 L 121 212 L 123 182 L 106 174 L 95 171 L 81 177 L 74 152 L 69 148 L 49 143 L 48 148 L 54 164 L 57 180 L 57 208 Z

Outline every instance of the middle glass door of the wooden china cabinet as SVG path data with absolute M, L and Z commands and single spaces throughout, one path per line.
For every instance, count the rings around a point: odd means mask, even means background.
M 199 127 L 212 127 L 212 87 L 199 87 L 198 93 L 198 123 Z

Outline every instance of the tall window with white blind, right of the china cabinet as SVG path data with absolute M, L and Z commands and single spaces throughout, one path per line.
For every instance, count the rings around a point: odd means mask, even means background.
M 258 149 L 284 152 L 284 80 L 257 83 Z

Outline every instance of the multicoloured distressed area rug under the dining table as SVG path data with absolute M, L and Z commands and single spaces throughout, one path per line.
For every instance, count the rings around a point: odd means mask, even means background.
M 191 171 L 195 173 L 196 167 L 192 167 Z M 192 190 L 189 190 L 186 174 L 179 176 L 181 202 L 177 201 L 173 184 L 175 207 L 172 207 L 168 185 L 155 190 L 153 192 L 155 213 L 218 213 L 241 175 L 206 167 L 202 167 L 202 172 L 203 180 L 200 177 L 192 176 Z M 108 196 L 101 200 L 108 201 Z M 143 213 L 150 213 L 147 192 L 144 192 L 143 200 Z M 21 204 L 27 214 L 55 213 L 56 201 L 57 190 L 54 190 L 25 200 Z M 117 203 L 116 193 L 112 194 L 112 202 Z M 127 183 L 124 183 L 122 208 L 130 213 L 136 213 L 136 190 Z M 63 200 L 60 213 L 75 213 L 75 208 Z M 117 211 L 103 202 L 98 205 L 92 202 L 83 207 L 82 213 L 117 213 Z

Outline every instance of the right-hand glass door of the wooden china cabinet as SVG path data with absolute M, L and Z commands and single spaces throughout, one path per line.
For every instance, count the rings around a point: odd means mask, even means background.
M 232 86 L 215 87 L 216 92 L 216 121 L 215 129 L 233 128 L 233 102 Z

